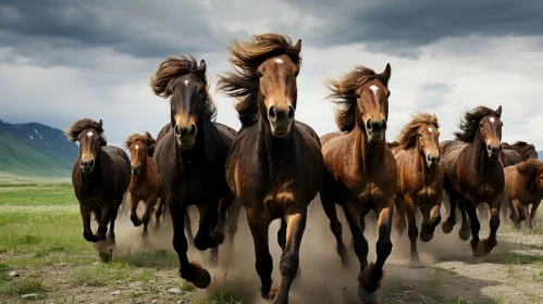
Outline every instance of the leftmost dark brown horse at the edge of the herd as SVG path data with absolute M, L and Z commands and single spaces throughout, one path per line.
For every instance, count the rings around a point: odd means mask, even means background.
M 98 242 L 106 237 L 115 241 L 119 206 L 131 183 L 128 155 L 120 148 L 107 145 L 101 119 L 98 123 L 89 118 L 79 119 L 65 130 L 65 135 L 70 141 L 79 142 L 72 183 L 79 201 L 83 237 L 89 242 Z M 96 233 L 90 229 L 91 213 L 98 223 Z

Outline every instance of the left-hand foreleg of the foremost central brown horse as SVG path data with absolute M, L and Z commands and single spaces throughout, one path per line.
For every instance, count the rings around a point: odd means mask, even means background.
M 272 287 L 271 274 L 273 270 L 273 259 L 270 254 L 268 241 L 268 227 L 270 219 L 262 212 L 246 208 L 247 221 L 249 224 L 250 233 L 255 242 L 255 256 L 257 274 L 260 277 L 262 286 L 260 294 L 263 299 L 271 300 L 275 296 L 276 288 Z

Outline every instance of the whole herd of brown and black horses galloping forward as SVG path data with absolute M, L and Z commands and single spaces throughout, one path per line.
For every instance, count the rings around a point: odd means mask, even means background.
M 407 226 L 411 263 L 420 263 L 417 210 L 423 218 L 420 239 L 429 242 L 442 221 L 442 201 L 448 198 L 442 229 L 445 233 L 453 230 L 458 210 L 459 236 L 462 240 L 471 237 L 476 256 L 491 253 L 497 244 L 502 205 L 516 227 L 526 219 L 531 228 L 543 199 L 543 163 L 531 144 L 501 142 L 501 106 L 465 113 L 455 140 L 442 142 L 437 117 L 418 113 L 396 141 L 386 142 L 391 66 L 381 73 L 356 66 L 326 81 L 329 98 L 338 105 L 340 131 L 319 138 L 311 127 L 295 121 L 301 40 L 294 43 L 277 34 L 254 35 L 244 42 L 234 40 L 229 51 L 233 69 L 219 76 L 218 89 L 237 100 L 238 131 L 214 122 L 206 62 L 198 64 L 192 55 L 166 59 L 151 76 L 155 94 L 170 100 L 170 122 L 157 140 L 148 132 L 129 136 L 125 148 L 131 157 L 107 145 L 102 121 L 81 119 L 65 131 L 71 141 L 79 142 L 73 186 L 87 241 L 114 240 L 118 210 L 127 192 L 131 219 L 134 226 L 144 225 L 144 233 L 152 215 L 158 224 L 168 210 L 181 277 L 203 289 L 211 277 L 198 262 L 188 259 L 188 241 L 217 255 L 225 226 L 231 238 L 235 233 L 243 205 L 255 242 L 261 295 L 287 303 L 298 271 L 308 205 L 320 193 L 341 262 L 349 267 L 336 213 L 336 205 L 343 207 L 359 261 L 358 294 L 363 302 L 374 303 L 393 246 L 393 224 L 399 233 Z M 146 203 L 143 218 L 136 213 L 139 201 Z M 480 240 L 477 210 L 484 202 L 490 206 L 491 231 Z M 200 215 L 194 240 L 190 205 Z M 366 223 L 370 211 L 377 223 Z M 96 233 L 90 229 L 91 213 L 98 223 Z M 281 219 L 277 240 L 283 250 L 279 287 L 271 278 L 268 240 L 274 219 Z M 367 224 L 378 227 L 374 263 L 368 263 Z

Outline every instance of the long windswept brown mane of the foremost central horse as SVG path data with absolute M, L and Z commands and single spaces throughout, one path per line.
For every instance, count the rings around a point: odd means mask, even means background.
M 294 48 L 288 36 L 279 34 L 251 35 L 249 41 L 234 40 L 229 47 L 230 63 L 233 72 L 219 76 L 218 89 L 226 96 L 237 98 L 235 109 L 244 126 L 258 122 L 259 80 L 257 68 L 268 59 L 287 54 L 291 60 L 301 65 L 301 56 Z

